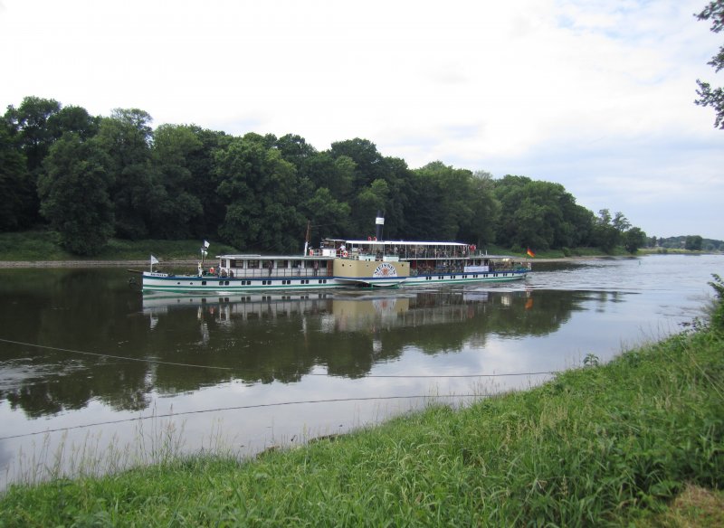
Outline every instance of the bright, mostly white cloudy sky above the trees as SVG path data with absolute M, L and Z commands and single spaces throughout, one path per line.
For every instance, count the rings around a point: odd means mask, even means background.
M 566 187 L 649 236 L 724 240 L 724 130 L 694 104 L 709 0 L 0 0 L 0 109 L 355 137 Z

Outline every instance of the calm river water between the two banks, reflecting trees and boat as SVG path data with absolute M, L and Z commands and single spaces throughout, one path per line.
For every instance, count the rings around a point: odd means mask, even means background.
M 169 431 L 182 451 L 251 454 L 526 388 L 681 330 L 724 276 L 722 256 L 534 266 L 504 285 L 221 298 L 141 295 L 122 269 L 0 270 L 0 486 L 93 449 L 148 460 Z

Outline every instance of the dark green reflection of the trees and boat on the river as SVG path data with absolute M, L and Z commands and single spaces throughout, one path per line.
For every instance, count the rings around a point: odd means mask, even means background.
M 101 274 L 102 275 L 102 274 Z M 236 297 L 128 297 L 97 286 L 92 299 L 64 295 L 97 274 L 69 273 L 25 311 L 4 344 L 0 399 L 37 418 L 92 400 L 114 410 L 148 408 L 229 381 L 294 383 L 322 368 L 357 379 L 413 346 L 453 354 L 491 333 L 546 335 L 588 296 L 459 288 Z M 107 286 L 107 285 L 106 285 Z M 70 289 L 69 289 L 70 288 Z M 9 316 L 9 314 L 7 314 Z M 20 344 L 25 343 L 25 344 Z M 43 348 L 31 346 L 39 344 Z

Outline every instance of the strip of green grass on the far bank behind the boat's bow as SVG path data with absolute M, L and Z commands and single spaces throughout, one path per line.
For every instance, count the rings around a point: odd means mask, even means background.
M 53 231 L 0 233 L 0 260 L 85 260 L 63 250 Z M 210 255 L 235 253 L 233 247 L 211 241 Z M 139 260 L 155 255 L 158 259 L 197 259 L 201 240 L 119 240 L 108 245 L 92 260 Z

